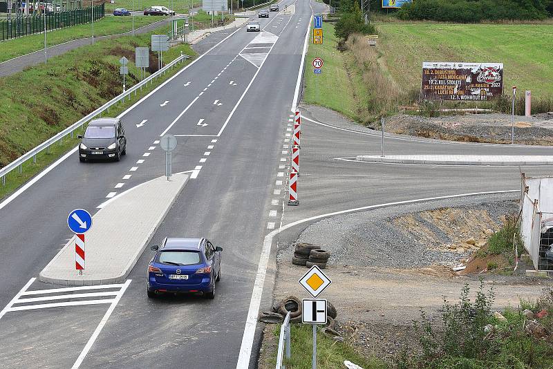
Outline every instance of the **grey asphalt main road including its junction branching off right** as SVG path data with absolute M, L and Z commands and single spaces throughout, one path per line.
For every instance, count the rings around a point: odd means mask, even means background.
M 285 0 L 281 6 L 290 3 L 292 0 Z M 198 45 L 208 50 L 207 54 L 122 116 L 129 148 L 120 162 L 79 163 L 77 154 L 72 153 L 0 209 L 3 307 L 71 237 L 66 227 L 69 211 L 84 208 L 94 212 L 110 193 L 163 175 L 165 158 L 156 140 L 162 133 L 174 134 L 178 146 L 173 170 L 201 168 L 176 200 L 152 243 L 165 236 L 206 236 L 222 246 L 223 276 L 216 299 L 147 299 L 145 269 L 151 258 L 147 249 L 129 276 L 128 289 L 103 323 L 105 304 L 0 314 L 3 366 L 28 368 L 33 363 L 40 368 L 71 368 L 88 346 L 79 368 L 235 368 L 263 238 L 271 223 L 279 226 L 282 216 L 283 222 L 289 223 L 397 200 L 518 188 L 518 168 L 337 160 L 379 153 L 379 138 L 304 120 L 300 205 L 283 207 L 283 185 L 279 185 L 283 178 L 279 173 L 285 171 L 288 155 L 282 151 L 311 14 L 307 1 L 297 1 L 293 16 L 271 13 L 270 19 L 260 19 L 261 26 L 278 37 L 274 44 L 266 43 L 263 50 L 268 56 L 263 60 L 247 55 L 247 45 L 257 33 L 241 28 L 208 37 Z M 543 154 L 549 150 L 404 140 L 390 140 L 386 147 L 389 153 Z M 526 171 L 538 174 L 549 170 L 536 167 Z M 128 179 L 123 180 L 124 176 Z M 115 188 L 119 183 L 123 186 Z M 306 226 L 303 223 L 290 229 L 283 240 Z M 265 292 L 270 293 L 270 283 L 265 285 Z M 58 287 L 34 281 L 28 290 Z M 89 344 L 93 332 L 104 323 Z M 259 334 L 251 367 L 255 366 L 258 344 Z

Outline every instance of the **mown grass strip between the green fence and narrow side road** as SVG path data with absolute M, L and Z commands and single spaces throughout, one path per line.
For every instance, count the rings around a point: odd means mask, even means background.
M 134 27 L 135 29 L 140 28 L 162 19 L 162 17 L 135 17 Z M 104 36 L 129 32 L 132 30 L 132 21 L 131 17 L 106 16 L 100 19 L 100 21 L 94 22 L 94 35 Z M 91 27 L 91 23 L 87 23 L 50 31 L 46 35 L 46 44 L 48 46 L 53 46 L 74 39 L 91 37 Z M 2 41 L 0 42 L 0 62 L 43 49 L 44 33 Z

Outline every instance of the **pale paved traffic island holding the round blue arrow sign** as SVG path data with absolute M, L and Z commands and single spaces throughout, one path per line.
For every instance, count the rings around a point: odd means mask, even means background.
M 73 237 L 40 272 L 40 281 L 63 285 L 124 281 L 188 178 L 185 173 L 174 174 L 171 181 L 162 176 L 105 202 L 93 216 L 93 225 L 84 236 L 83 274 L 75 270 Z

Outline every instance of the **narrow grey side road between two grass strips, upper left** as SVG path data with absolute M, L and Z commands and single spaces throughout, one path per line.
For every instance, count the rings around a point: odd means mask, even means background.
M 136 28 L 134 32 L 138 34 L 150 32 L 151 30 L 155 30 L 156 28 L 169 23 L 171 19 L 172 18 L 165 18 L 156 23 L 151 23 L 148 26 Z M 114 39 L 117 37 L 128 36 L 131 34 L 132 34 L 132 31 L 130 30 L 129 32 L 119 33 L 117 35 L 98 36 L 98 37 L 94 37 L 94 39 L 96 40 Z M 73 41 L 64 42 L 63 44 L 50 46 L 46 48 L 48 59 L 50 59 L 51 57 L 57 57 L 58 55 L 67 53 L 68 51 L 71 51 L 75 48 L 79 48 L 80 46 L 86 46 L 90 44 L 92 44 L 92 37 L 86 37 L 84 39 L 75 39 Z M 35 51 L 34 53 L 21 55 L 20 57 L 16 57 L 14 59 L 3 61 L 3 63 L 0 63 L 0 77 L 13 75 L 15 73 L 21 72 L 21 70 L 24 70 L 28 66 L 34 66 L 41 63 L 44 63 L 44 49 Z

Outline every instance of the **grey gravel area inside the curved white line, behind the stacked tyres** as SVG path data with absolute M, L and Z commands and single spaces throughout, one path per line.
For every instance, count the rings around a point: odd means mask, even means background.
M 438 234 L 442 240 L 441 242 L 438 240 L 436 247 L 432 247 L 429 243 L 421 242 L 420 237 L 410 235 L 397 227 L 395 220 L 406 214 L 429 209 L 456 207 L 466 212 L 471 209 L 484 209 L 490 218 L 500 224 L 500 216 L 518 209 L 518 205 L 514 202 L 516 196 L 510 193 L 437 200 L 400 208 L 387 207 L 335 216 L 310 225 L 301 233 L 299 241 L 321 245 L 323 249 L 330 251 L 331 256 L 328 259 L 330 266 L 415 268 L 436 264 L 457 265 L 471 252 L 451 252 L 440 249 L 438 245 L 452 242 L 447 234 L 440 229 L 435 229 L 435 234 Z M 426 221 L 422 218 L 420 220 Z M 433 226 L 430 224 L 429 227 Z M 293 252 L 293 247 L 288 245 L 279 250 L 277 258 L 279 261 L 289 261 Z

